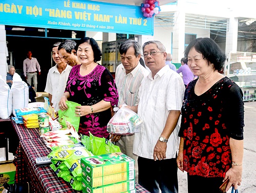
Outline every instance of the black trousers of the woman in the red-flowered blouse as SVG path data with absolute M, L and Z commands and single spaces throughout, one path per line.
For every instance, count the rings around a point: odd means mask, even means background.
M 188 193 L 219 193 L 224 178 L 205 178 L 202 176 L 187 175 Z

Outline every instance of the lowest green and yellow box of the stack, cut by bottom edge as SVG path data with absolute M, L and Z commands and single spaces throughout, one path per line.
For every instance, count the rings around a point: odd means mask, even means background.
M 99 187 L 91 187 L 86 180 L 82 178 L 82 191 L 84 193 L 120 193 L 136 192 L 135 180 L 119 182 Z

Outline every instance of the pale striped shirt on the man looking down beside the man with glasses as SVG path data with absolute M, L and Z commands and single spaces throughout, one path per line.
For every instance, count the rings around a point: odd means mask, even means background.
M 116 86 L 118 90 L 119 100 L 118 105 L 126 104 L 130 106 L 138 105 L 138 91 L 142 79 L 148 75 L 149 71 L 146 70 L 141 64 L 138 64 L 131 73 L 125 73 L 122 64 L 116 68 Z

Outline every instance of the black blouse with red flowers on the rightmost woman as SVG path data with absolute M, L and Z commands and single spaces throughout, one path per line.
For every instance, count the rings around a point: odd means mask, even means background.
M 243 94 L 225 77 L 198 96 L 197 81 L 188 84 L 181 110 L 183 169 L 189 175 L 224 177 L 231 167 L 229 138 L 243 139 Z

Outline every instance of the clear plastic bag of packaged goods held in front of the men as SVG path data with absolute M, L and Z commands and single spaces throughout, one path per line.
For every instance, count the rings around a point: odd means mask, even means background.
M 142 120 L 137 113 L 126 107 L 120 108 L 110 119 L 107 129 L 112 134 L 137 133 Z

